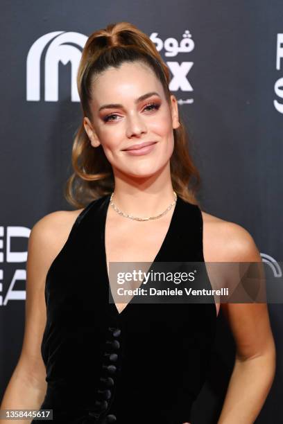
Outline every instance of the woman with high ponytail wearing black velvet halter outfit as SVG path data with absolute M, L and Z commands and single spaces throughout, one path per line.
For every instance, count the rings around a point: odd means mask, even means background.
M 259 262 L 259 251 L 245 229 L 200 211 L 169 70 L 144 33 L 120 22 L 90 35 L 78 91 L 67 199 L 79 209 L 31 231 L 24 345 L 2 408 L 53 409 L 55 423 L 191 423 L 220 305 L 110 303 L 108 265 Z M 275 372 L 268 310 L 221 308 L 237 356 L 218 424 L 250 424 Z

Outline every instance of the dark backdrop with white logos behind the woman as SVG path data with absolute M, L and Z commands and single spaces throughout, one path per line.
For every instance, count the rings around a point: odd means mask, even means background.
M 169 66 L 202 177 L 202 209 L 247 229 L 282 279 L 282 0 L 2 0 L 0 19 L 0 399 L 22 348 L 28 236 L 46 213 L 71 209 L 63 187 L 82 118 L 81 51 L 110 23 L 135 24 Z M 283 420 L 283 306 L 268 309 L 277 371 L 257 424 Z M 193 422 L 216 423 L 233 364 L 221 313 Z

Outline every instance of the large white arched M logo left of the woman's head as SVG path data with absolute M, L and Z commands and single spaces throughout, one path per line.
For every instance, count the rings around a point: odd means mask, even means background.
M 64 65 L 71 62 L 71 101 L 78 102 L 79 96 L 76 87 L 76 74 L 81 58 L 80 48 L 85 46 L 86 41 L 87 37 L 83 34 L 73 32 L 65 33 L 64 31 L 55 31 L 42 35 L 42 37 L 37 39 L 31 46 L 26 59 L 26 100 L 40 100 L 40 63 L 42 61 L 44 48 L 47 46 L 43 58 L 44 100 L 46 102 L 58 101 L 58 65 L 60 62 Z M 70 43 L 76 44 L 78 47 Z

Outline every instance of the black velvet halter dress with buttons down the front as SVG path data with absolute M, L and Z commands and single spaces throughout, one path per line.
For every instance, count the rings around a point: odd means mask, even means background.
M 109 201 L 105 195 L 83 209 L 47 273 L 48 386 L 40 408 L 53 409 L 56 424 L 191 423 L 214 343 L 215 303 L 130 301 L 119 313 L 108 291 Z M 153 263 L 166 261 L 204 261 L 200 209 L 179 196 Z

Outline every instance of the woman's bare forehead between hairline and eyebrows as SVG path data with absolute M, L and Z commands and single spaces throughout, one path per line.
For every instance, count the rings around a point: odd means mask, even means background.
M 154 71 L 141 62 L 124 62 L 119 68 L 110 67 L 92 80 L 94 104 L 117 98 L 137 98 L 146 91 L 157 91 L 162 96 L 162 84 Z

